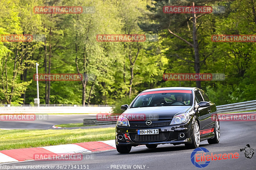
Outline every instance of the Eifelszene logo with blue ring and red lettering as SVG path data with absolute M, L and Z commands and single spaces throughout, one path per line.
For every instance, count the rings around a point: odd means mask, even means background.
M 197 153 L 203 151 L 204 153 Z M 206 153 L 209 152 L 206 148 L 199 147 L 194 149 L 194 151 L 190 155 L 190 159 L 193 165 L 195 165 L 198 168 L 204 168 L 208 166 L 211 162 L 211 160 L 225 160 L 225 159 L 237 159 L 239 158 L 239 153 L 220 153 L 220 154 L 213 154 L 212 152 L 210 154 Z M 205 162 L 206 161 L 206 162 Z M 200 164 L 201 163 L 201 164 Z

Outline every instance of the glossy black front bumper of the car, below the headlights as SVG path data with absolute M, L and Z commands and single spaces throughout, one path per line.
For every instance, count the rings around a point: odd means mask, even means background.
M 168 125 L 158 127 L 124 127 L 116 126 L 116 145 L 131 145 L 138 146 L 144 144 L 191 144 L 192 143 L 192 118 L 187 123 L 179 125 Z M 137 135 L 137 130 L 140 129 L 158 129 L 159 134 L 168 134 L 161 141 L 140 141 L 139 138 L 144 135 Z M 185 137 L 181 138 L 180 133 L 184 133 Z M 118 139 L 119 135 L 123 135 L 123 139 Z M 136 138 L 135 138 L 136 136 Z M 145 135 L 146 136 L 146 135 Z M 149 135 L 148 135 L 149 136 Z M 151 136 L 152 137 L 152 136 Z M 158 136 L 157 136 L 158 137 Z M 146 137 L 150 139 L 150 137 Z M 154 137 L 156 139 L 156 137 Z

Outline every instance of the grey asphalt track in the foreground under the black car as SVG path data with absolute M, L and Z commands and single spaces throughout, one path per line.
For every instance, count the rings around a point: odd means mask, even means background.
M 204 168 L 198 168 L 191 163 L 190 155 L 193 149 L 186 149 L 184 144 L 159 145 L 156 149 L 148 149 L 146 146 L 132 147 L 129 154 L 120 154 L 116 150 L 107 152 L 94 152 L 83 155 L 83 160 L 80 161 L 61 161 L 61 160 L 41 160 L 41 161 L 27 161 L 19 163 L 4 164 L 10 169 L 31 169 L 28 166 L 34 166 L 32 169 L 40 169 L 35 166 L 48 166 L 45 169 L 82 169 L 84 165 L 89 169 L 127 169 L 120 168 L 122 165 L 131 165 L 129 169 L 139 169 L 135 166 L 142 165 L 140 169 L 147 170 L 185 170 L 185 169 L 255 169 L 256 168 L 256 154 L 251 159 L 246 159 L 241 148 L 246 144 L 250 144 L 251 148 L 256 152 L 256 125 L 255 122 L 220 122 L 221 137 L 219 144 L 208 144 L 207 141 L 200 143 L 200 147 L 208 149 L 213 154 L 224 153 L 239 153 L 238 159 L 226 160 L 211 160 L 210 164 Z M 200 153 L 200 152 L 198 152 Z M 201 152 L 202 153 L 202 152 Z M 207 153 L 208 154 L 208 153 Z M 86 156 L 87 155 L 87 156 Z M 90 155 L 90 156 L 89 156 Z M 86 159 L 87 158 L 87 159 Z M 204 163 L 204 162 L 203 162 Z M 4 168 L 3 164 L 0 169 Z M 59 166 L 58 166 L 59 165 Z M 76 168 L 74 166 L 76 165 Z M 77 166 L 79 165 L 79 168 Z M 88 166 L 87 166 L 88 165 Z M 119 166 L 117 166 L 119 165 Z M 2 166 L 2 167 L 1 167 Z M 18 166 L 27 166 L 18 167 Z M 50 166 L 55 166 L 51 168 Z M 57 167 L 58 166 L 58 167 Z M 60 166 L 63 166 L 60 168 Z M 69 168 L 68 168 L 69 166 Z M 73 166 L 73 168 L 71 168 Z M 145 167 L 144 167 L 145 166 Z M 114 168 L 116 167 L 116 168 Z M 138 166 L 137 166 L 138 167 Z M 43 169 L 43 168 L 41 168 Z

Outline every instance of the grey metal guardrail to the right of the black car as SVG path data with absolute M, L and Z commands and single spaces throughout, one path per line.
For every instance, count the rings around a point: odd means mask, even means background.
M 244 101 L 227 105 L 216 106 L 218 113 L 242 112 L 256 110 L 256 100 Z

